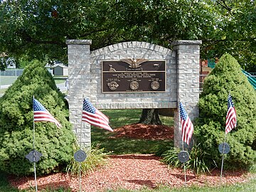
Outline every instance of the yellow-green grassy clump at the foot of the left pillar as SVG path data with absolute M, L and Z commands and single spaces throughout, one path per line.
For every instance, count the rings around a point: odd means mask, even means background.
M 75 146 L 74 149 L 75 153 L 75 151 L 78 151 L 78 146 Z M 109 153 L 105 153 L 103 148 L 99 149 L 98 146 L 95 148 L 92 146 L 90 150 L 86 151 L 87 158 L 85 161 L 79 163 L 78 161 L 75 161 L 75 159 L 72 159 L 70 164 L 68 164 L 66 171 L 71 176 L 79 176 L 80 171 L 81 174 L 86 175 L 97 169 L 99 166 L 106 165 L 107 154 Z

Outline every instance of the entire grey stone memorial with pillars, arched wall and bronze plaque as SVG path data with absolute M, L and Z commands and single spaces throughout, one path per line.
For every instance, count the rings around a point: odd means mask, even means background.
M 174 145 L 181 146 L 178 101 L 198 117 L 201 41 L 174 41 L 173 50 L 132 41 L 91 51 L 92 43 L 66 41 L 70 122 L 82 145 L 91 145 L 90 124 L 81 122 L 87 98 L 98 110 L 173 109 Z

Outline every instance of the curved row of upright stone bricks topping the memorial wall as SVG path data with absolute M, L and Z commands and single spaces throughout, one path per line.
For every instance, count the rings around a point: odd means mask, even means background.
M 146 43 L 143 41 L 128 41 L 123 43 L 116 43 L 111 46 L 93 50 L 90 53 L 90 55 L 92 58 L 94 58 L 100 55 L 105 55 L 107 53 L 114 53 L 115 51 L 124 50 L 124 49 L 146 49 L 146 50 L 154 51 L 155 53 L 161 53 L 163 55 L 169 55 L 172 52 L 172 50 L 168 48 L 164 48 L 162 46 L 158 46 L 152 43 Z

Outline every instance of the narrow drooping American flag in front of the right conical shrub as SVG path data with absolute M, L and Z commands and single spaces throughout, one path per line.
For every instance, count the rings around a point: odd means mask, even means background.
M 237 118 L 235 112 L 235 105 L 232 102 L 231 95 L 228 95 L 228 112 L 226 116 L 225 134 L 228 134 L 233 128 L 236 127 Z

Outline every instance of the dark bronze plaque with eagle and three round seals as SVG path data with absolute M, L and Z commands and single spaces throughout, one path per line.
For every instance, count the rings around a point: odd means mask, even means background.
M 165 92 L 164 60 L 102 61 L 102 92 Z

